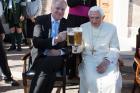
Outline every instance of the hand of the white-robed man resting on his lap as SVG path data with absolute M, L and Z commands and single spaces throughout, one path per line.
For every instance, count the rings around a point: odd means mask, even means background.
M 110 61 L 107 59 L 104 59 L 103 62 L 96 67 L 96 71 L 100 74 L 104 73 L 107 70 L 107 67 L 109 64 L 110 64 Z

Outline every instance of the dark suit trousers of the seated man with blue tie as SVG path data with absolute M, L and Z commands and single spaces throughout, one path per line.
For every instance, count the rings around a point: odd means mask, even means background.
M 44 56 L 36 60 L 35 76 L 32 79 L 29 93 L 51 93 L 56 72 L 64 62 L 61 56 Z

